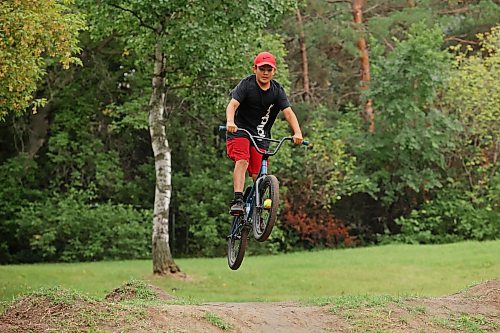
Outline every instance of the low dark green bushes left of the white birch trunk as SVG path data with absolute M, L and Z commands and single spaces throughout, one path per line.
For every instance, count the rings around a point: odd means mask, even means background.
M 109 203 L 91 206 L 82 193 L 57 195 L 21 208 L 7 222 L 14 243 L 11 262 L 91 261 L 146 258 L 149 211 Z

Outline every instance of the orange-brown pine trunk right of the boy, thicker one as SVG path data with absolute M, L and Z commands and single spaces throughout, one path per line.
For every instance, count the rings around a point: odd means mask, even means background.
M 352 0 L 352 14 L 354 17 L 354 23 L 358 27 L 363 24 L 363 0 Z M 361 29 L 360 29 L 361 30 Z M 357 46 L 359 50 L 359 61 L 361 64 L 361 90 L 368 89 L 370 84 L 370 62 L 368 60 L 368 49 L 366 46 L 366 40 L 363 37 L 362 31 L 359 31 L 360 37 L 358 38 Z M 368 122 L 368 131 L 375 131 L 375 122 L 372 109 L 372 101 L 368 99 L 365 104 L 364 118 Z

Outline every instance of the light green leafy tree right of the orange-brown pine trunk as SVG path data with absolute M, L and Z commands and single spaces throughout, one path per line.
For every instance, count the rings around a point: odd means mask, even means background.
M 391 231 L 394 217 L 442 188 L 446 157 L 455 147 L 457 126 L 435 107 L 450 67 L 442 43 L 441 28 L 419 23 L 406 40 L 395 42 L 393 52 L 373 57 L 369 96 L 381 112 L 363 161 L 379 186 Z

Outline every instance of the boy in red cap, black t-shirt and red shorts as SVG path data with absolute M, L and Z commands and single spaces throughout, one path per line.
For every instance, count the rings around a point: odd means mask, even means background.
M 295 113 L 283 87 L 273 80 L 276 74 L 276 59 L 269 52 L 259 53 L 253 64 L 253 75 L 242 79 L 231 91 L 231 100 L 226 108 L 226 151 L 234 163 L 234 199 L 230 214 L 244 214 L 243 188 L 245 173 L 255 181 L 262 162 L 262 155 L 250 144 L 250 140 L 238 128 L 262 138 L 271 137 L 271 127 L 280 111 L 293 131 L 293 142 L 301 144 L 302 132 Z M 268 143 L 257 142 L 259 148 L 267 149 Z

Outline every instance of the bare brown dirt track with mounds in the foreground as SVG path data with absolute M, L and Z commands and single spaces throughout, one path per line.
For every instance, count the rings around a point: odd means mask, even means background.
M 117 288 L 104 300 L 66 291 L 32 294 L 5 309 L 0 332 L 500 332 L 499 280 L 444 297 L 347 307 L 172 304 L 156 287 L 133 288 Z

